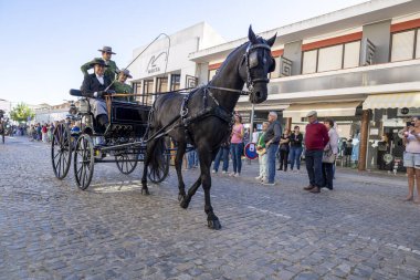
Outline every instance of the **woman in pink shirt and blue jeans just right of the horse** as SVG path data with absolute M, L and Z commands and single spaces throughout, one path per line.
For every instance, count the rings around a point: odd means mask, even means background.
M 233 172 L 230 176 L 239 177 L 242 168 L 242 153 L 243 153 L 243 135 L 244 127 L 242 124 L 242 117 L 239 114 L 234 115 L 234 125 L 232 127 L 232 137 L 230 144 L 230 151 L 232 154 Z

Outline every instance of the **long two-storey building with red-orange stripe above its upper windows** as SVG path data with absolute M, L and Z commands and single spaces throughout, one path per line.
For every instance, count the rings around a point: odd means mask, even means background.
M 402 167 L 406 122 L 420 113 L 420 1 L 374 0 L 260 33 L 277 32 L 269 98 L 256 120 L 277 111 L 285 126 L 304 131 L 308 111 L 336 121 L 342 165 Z M 189 55 L 206 83 L 248 38 Z M 237 110 L 250 115 L 248 98 Z M 346 152 L 347 147 L 347 152 Z

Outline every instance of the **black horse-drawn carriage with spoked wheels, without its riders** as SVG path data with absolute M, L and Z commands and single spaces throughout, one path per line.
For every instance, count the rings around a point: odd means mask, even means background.
M 71 90 L 70 94 L 81 97 L 77 106 L 72 103 L 67 118 L 78 126 L 71 127 L 66 122 L 54 128 L 51 158 L 55 176 L 65 178 L 72 157 L 75 180 L 81 189 L 90 186 L 96 163 L 116 163 L 123 174 L 133 173 L 145 158 L 150 106 L 114 100 L 113 96 L 119 94 L 106 96 L 109 125 L 105 133 L 98 133 L 88 98 L 78 90 Z M 165 151 L 161 168 L 148 170 L 148 178 L 156 184 L 169 172 L 170 149 Z

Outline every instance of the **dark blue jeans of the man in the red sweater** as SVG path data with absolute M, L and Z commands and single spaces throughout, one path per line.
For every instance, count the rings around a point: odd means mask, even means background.
M 309 184 L 318 188 L 324 187 L 323 153 L 322 149 L 305 152 L 305 163 Z

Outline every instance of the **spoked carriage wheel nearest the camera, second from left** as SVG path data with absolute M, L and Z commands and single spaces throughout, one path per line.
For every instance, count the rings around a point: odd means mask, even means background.
M 92 138 L 87 134 L 82 134 L 77 139 L 73 158 L 74 177 L 77 187 L 82 190 L 85 190 L 91 184 L 94 163 Z

